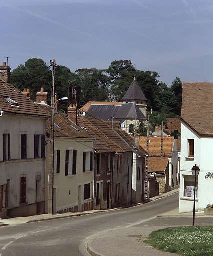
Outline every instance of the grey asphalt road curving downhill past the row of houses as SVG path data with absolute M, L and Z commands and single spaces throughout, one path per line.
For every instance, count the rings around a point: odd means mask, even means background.
M 98 232 L 139 225 L 178 207 L 179 193 L 130 208 L 0 227 L 0 256 L 82 255 L 79 245 Z

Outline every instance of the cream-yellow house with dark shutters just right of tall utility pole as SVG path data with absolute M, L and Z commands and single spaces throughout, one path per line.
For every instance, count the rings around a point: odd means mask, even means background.
M 48 105 L 39 104 L 50 113 Z M 46 179 L 49 167 L 50 119 L 47 120 Z M 55 114 L 53 212 L 93 208 L 94 139 L 68 119 Z M 46 184 L 47 185 L 47 184 Z M 46 187 L 47 188 L 47 187 Z M 46 189 L 46 201 L 48 189 Z M 46 212 L 47 212 L 46 204 Z

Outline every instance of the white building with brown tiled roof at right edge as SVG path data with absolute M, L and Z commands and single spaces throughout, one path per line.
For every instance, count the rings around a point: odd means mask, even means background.
M 184 82 L 181 113 L 179 212 L 193 211 L 191 169 L 200 168 L 196 180 L 196 210 L 213 202 L 213 83 Z

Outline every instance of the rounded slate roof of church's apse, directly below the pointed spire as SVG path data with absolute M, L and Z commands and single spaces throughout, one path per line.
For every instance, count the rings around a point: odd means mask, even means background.
M 140 111 L 139 107 L 134 103 L 123 103 L 118 111 L 114 114 L 114 117 L 120 120 L 121 123 L 125 119 L 146 119 L 144 114 Z

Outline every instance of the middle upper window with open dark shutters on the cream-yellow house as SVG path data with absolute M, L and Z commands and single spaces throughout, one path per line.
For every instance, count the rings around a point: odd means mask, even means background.
M 77 150 L 66 150 L 65 175 L 77 173 Z

